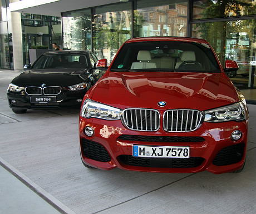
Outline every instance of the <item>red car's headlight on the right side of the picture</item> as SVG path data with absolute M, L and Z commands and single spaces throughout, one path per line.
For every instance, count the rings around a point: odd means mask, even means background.
M 205 122 L 227 122 L 247 120 L 246 107 L 243 102 L 205 111 Z

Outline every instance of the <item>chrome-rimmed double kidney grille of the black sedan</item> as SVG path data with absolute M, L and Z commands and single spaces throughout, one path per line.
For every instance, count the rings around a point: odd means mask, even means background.
M 53 87 L 26 87 L 25 91 L 29 95 L 56 95 L 61 93 L 61 87 L 60 86 L 53 86 Z

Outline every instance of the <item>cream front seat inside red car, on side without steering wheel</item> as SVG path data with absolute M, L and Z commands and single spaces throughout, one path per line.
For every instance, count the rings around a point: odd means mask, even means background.
M 137 61 L 131 64 L 131 69 L 146 69 L 146 68 L 156 68 L 156 63 L 151 61 L 150 51 L 139 51 L 137 54 Z

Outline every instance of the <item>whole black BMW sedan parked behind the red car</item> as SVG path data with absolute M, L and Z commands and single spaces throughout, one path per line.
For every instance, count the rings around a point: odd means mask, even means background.
M 14 113 L 28 109 L 80 107 L 88 89 L 105 73 L 97 69 L 89 51 L 53 51 L 42 54 L 14 78 L 7 89 Z

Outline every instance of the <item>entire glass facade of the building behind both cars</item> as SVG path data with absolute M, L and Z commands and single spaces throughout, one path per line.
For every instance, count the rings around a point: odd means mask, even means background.
M 256 1 L 131 0 L 62 14 L 63 47 L 88 49 L 111 62 L 131 37 L 177 36 L 209 41 L 227 73 L 249 102 L 256 102 Z M 255 64 L 255 65 L 254 65 Z

